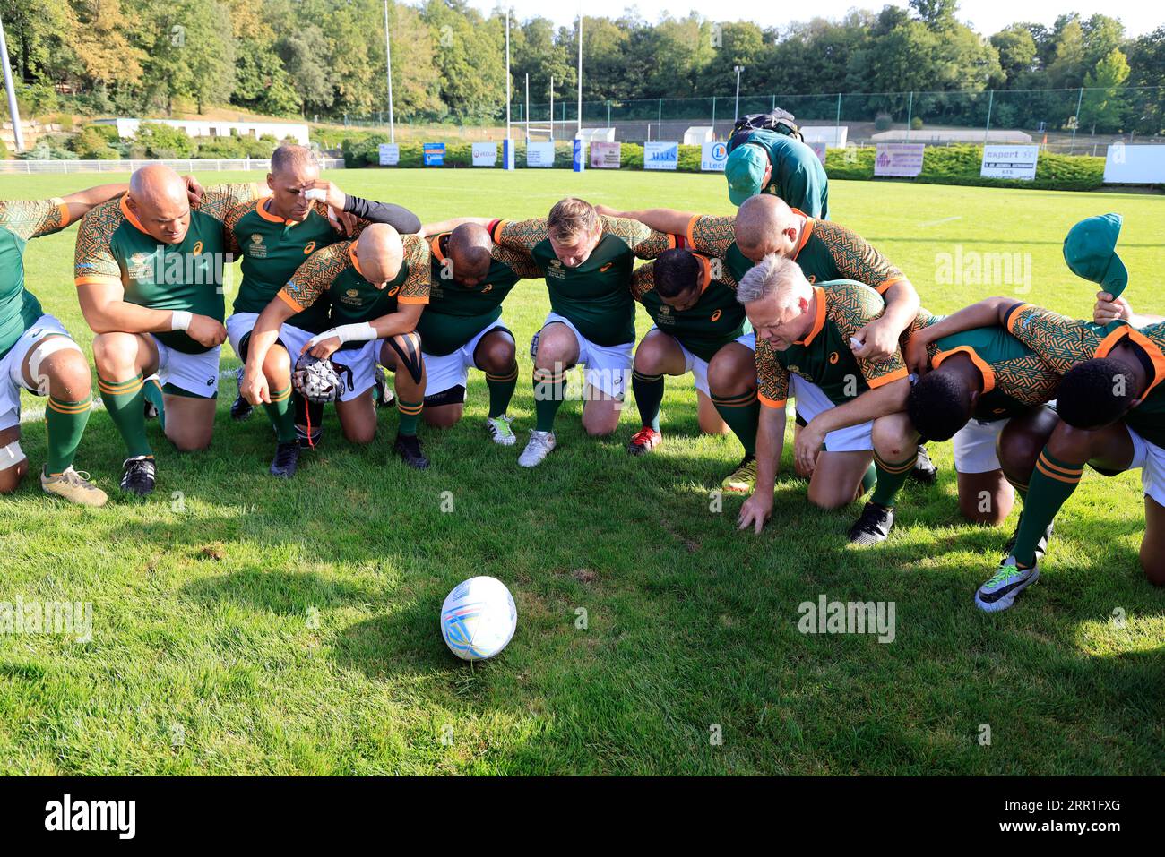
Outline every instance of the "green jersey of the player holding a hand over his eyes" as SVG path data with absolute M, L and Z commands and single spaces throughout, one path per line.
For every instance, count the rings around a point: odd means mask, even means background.
M 242 283 L 234 312 L 262 312 L 316 250 L 344 240 L 327 219 L 327 206 L 315 203 L 308 217 L 284 220 L 267 211 L 270 196 L 235 205 L 226 214 L 227 246 L 242 256 Z M 331 327 L 327 300 L 317 300 L 291 324 L 310 333 Z

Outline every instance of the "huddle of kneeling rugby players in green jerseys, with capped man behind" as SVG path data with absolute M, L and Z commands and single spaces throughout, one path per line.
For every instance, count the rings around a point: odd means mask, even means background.
M 303 451 L 323 441 L 329 404 L 346 441 L 369 444 L 377 408 L 395 403 L 394 451 L 428 468 L 418 427 L 461 419 L 471 370 L 485 373 L 483 433 L 515 445 L 518 338 L 502 311 L 520 279 L 541 278 L 551 310 L 530 343 L 535 424 L 522 467 L 556 448 L 573 367 L 585 368 L 588 435 L 616 431 L 630 387 L 635 456 L 663 442 L 665 377 L 691 374 L 700 431 L 730 432 L 742 447 L 722 482 L 748 495 L 740 529 L 760 532 L 772 515 L 793 402 L 792 460 L 809 501 L 841 509 L 869 495 L 849 529 L 856 546 L 885 540 L 908 479 L 934 482 L 926 442 L 953 441 L 967 519 L 998 525 L 1021 494 L 1008 554 L 975 594 L 983 610 L 1009 608 L 1038 579 L 1086 465 L 1142 469 L 1142 565 L 1165 583 L 1165 319 L 1121 297 L 1118 215 L 1089 218 L 1065 240 L 1069 269 L 1101 286 L 1092 321 L 1009 298 L 937 317 L 897 265 L 828 220 L 825 171 L 795 135 L 746 128 L 729 153 L 739 205 L 729 217 L 570 198 L 532 220 L 422 224 L 320 180 L 312 153 L 296 146 L 274 153 L 262 190 L 204 189 L 155 164 L 128 185 L 0 203 L 0 493 L 28 469 L 24 389 L 48 399 L 44 491 L 108 500 L 73 467 L 93 404 L 89 361 L 26 288 L 23 267 L 30 239 L 79 220 L 77 293 L 129 495 L 150 494 L 158 479 L 149 419 L 178 449 L 210 445 L 226 340 L 243 362 L 231 416 L 266 412 L 273 476 L 292 477 Z M 235 258 L 242 278 L 227 316 Z M 636 304 L 654 323 L 637 345 Z

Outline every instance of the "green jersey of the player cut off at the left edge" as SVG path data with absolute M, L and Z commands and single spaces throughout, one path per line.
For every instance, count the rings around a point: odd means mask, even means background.
M 24 288 L 24 247 L 66 226 L 69 207 L 58 198 L 0 201 L 0 357 L 44 314 Z

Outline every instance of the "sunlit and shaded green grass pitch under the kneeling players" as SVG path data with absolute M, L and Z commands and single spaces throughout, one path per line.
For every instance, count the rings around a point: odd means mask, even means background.
M 567 194 L 730 211 L 719 176 L 331 177 L 430 220 L 541 215 Z M 0 196 L 104 180 L 3 176 Z M 895 260 L 935 312 L 1021 292 L 1090 316 L 1093 289 L 1067 271 L 1060 243 L 1078 219 L 1122 212 L 1128 296 L 1163 310 L 1160 197 L 834 182 L 831 198 L 834 219 Z M 29 245 L 28 283 L 89 350 L 75 235 Z M 953 264 L 973 275 L 973 254 L 986 253 L 1021 254 L 1030 281 L 1023 268 L 1002 284 L 953 276 Z M 546 310 L 532 281 L 504 310 L 522 364 L 510 409 L 520 444 L 534 424 L 524 346 Z M 648 327 L 642 312 L 638 327 Z M 225 346 L 224 368 L 236 364 Z M 634 405 L 600 442 L 567 404 L 559 449 L 520 469 L 521 446 L 494 446 L 485 433 L 476 373 L 465 420 L 422 430 L 429 472 L 393 455 L 394 412 L 381 412 L 372 446 L 354 448 L 330 410 L 324 447 L 291 482 L 267 475 L 262 413 L 230 420 L 233 396 L 225 380 L 207 453 L 174 452 L 151 424 L 158 488 L 149 502 L 64 507 L 35 475 L 0 498 L 0 601 L 93 605 L 90 642 L 0 635 L 0 773 L 1165 770 L 1165 593 L 1137 565 L 1138 474 L 1089 472 L 1058 520 L 1043 580 L 1010 611 L 984 615 L 972 596 L 1017 512 L 998 530 L 962 523 L 947 444 L 932 448 L 939 484 L 908 486 L 889 541 L 855 551 L 845 533 L 860 507 L 812 509 L 788 475 L 760 537 L 735 531 L 739 497 L 712 510 L 709 491 L 740 449 L 698 435 L 687 378 L 669 380 L 666 440 L 647 459 L 624 452 L 638 427 Z M 42 405 L 26 396 L 26 419 Z M 22 445 L 40 467 L 35 418 Z M 116 495 L 121 459 L 112 423 L 96 412 L 77 466 Z M 445 594 L 474 574 L 511 588 L 518 630 L 500 658 L 471 667 L 446 651 L 437 619 Z M 798 605 L 822 594 L 895 602 L 895 640 L 799 633 Z

